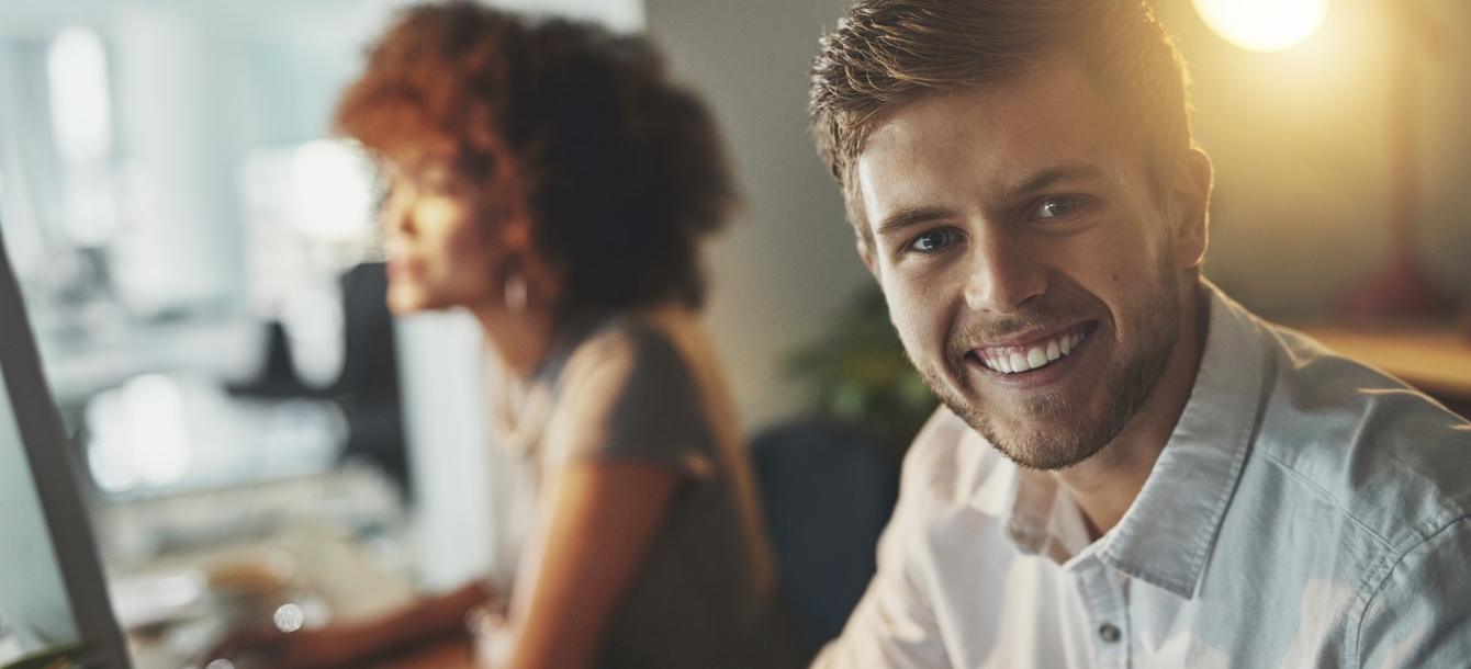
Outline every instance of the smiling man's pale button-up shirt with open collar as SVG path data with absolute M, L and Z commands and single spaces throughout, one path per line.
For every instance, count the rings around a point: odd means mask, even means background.
M 818 668 L 1468 668 L 1471 425 L 1211 291 L 1189 404 L 1089 541 L 947 410 Z

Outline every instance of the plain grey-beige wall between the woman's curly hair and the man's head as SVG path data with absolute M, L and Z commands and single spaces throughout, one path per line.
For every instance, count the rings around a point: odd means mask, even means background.
M 843 200 L 808 135 L 808 65 L 844 0 L 647 0 L 649 32 L 715 107 L 746 193 L 712 247 L 706 322 L 747 429 L 793 415 L 787 353 L 863 281 Z

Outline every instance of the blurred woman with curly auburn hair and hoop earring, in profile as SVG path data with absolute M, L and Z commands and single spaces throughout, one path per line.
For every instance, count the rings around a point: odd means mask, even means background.
M 338 128 L 384 166 L 388 304 L 465 307 L 503 366 L 490 423 L 528 472 L 494 668 L 788 668 L 788 623 L 716 356 L 700 241 L 733 204 L 705 106 L 641 37 L 456 1 L 406 10 Z M 488 582 L 244 647 L 344 666 L 463 629 Z

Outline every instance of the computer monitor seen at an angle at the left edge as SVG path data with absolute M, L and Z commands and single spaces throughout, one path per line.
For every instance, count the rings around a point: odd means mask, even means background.
M 127 669 L 91 519 L 0 238 L 0 612 L 31 653 L 94 641 Z

